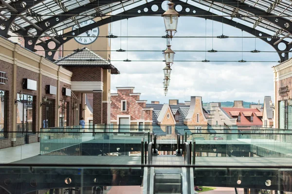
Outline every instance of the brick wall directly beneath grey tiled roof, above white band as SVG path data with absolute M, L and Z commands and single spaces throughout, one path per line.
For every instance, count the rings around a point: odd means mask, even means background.
M 65 67 L 73 73 L 71 81 L 103 81 L 101 67 Z

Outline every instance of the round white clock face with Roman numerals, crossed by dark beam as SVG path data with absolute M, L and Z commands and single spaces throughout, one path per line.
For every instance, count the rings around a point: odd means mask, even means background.
M 89 24 L 92 24 L 92 23 L 95 23 L 95 21 L 92 19 L 81 22 L 80 28 L 87 26 Z M 79 28 L 79 26 L 75 25 L 75 26 L 73 26 L 72 30 L 76 30 L 78 28 Z M 97 28 L 93 28 L 87 32 L 84 32 L 84 33 L 80 34 L 79 36 L 74 37 L 74 39 L 75 39 L 75 41 L 77 41 L 78 43 L 80 43 L 82 45 L 89 45 L 97 39 L 98 34 L 99 34 L 99 28 L 97 27 Z

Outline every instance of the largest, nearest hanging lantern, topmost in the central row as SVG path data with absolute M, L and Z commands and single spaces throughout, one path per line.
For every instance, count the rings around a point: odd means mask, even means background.
M 170 2 L 167 5 L 168 10 L 161 16 L 164 18 L 165 31 L 170 36 L 170 38 L 172 38 L 175 32 L 177 32 L 180 15 L 177 11 L 174 10 L 174 3 Z

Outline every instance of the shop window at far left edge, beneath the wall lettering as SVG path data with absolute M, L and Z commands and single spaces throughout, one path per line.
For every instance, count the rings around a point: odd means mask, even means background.
M 6 91 L 0 90 L 0 138 L 6 137 L 6 111 L 7 111 L 7 100 L 6 100 Z

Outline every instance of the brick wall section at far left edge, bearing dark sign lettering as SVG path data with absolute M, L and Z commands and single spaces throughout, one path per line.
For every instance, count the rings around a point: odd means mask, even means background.
M 12 105 L 11 101 L 12 98 L 12 75 L 13 75 L 13 65 L 6 63 L 4 61 L 0 60 L 0 71 L 6 72 L 8 81 L 6 81 L 6 84 L 0 84 L 0 90 L 6 91 L 6 123 L 5 128 L 7 131 L 12 131 Z M 6 138 L 0 138 L 0 149 L 4 147 L 10 147 L 11 146 L 11 137 L 12 133 L 6 133 Z

